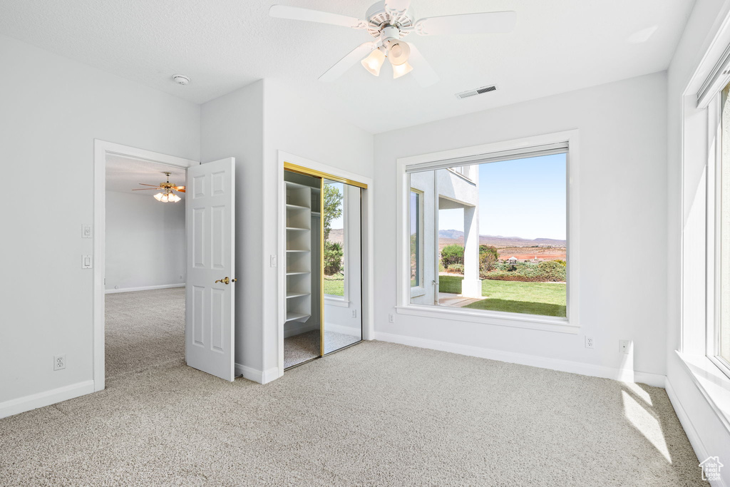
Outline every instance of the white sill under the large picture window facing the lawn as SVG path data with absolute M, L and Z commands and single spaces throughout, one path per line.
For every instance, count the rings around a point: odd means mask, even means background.
M 440 320 L 469 321 L 485 325 L 512 326 L 542 331 L 556 331 L 558 333 L 577 334 L 580 326 L 570 323 L 566 318 L 551 316 L 524 315 L 516 312 L 475 311 L 464 308 L 442 306 L 428 306 L 408 304 L 397 306 L 396 312 L 400 315 L 422 316 L 438 318 Z

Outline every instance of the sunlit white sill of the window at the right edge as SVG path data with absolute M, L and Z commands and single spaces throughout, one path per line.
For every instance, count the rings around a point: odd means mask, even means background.
M 723 374 L 707 356 L 675 351 L 695 386 L 730 432 L 730 377 Z

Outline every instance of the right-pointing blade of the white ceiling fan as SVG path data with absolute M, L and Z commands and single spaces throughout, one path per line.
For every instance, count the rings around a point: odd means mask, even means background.
M 422 36 L 436 34 L 495 34 L 512 31 L 516 22 L 516 12 L 481 12 L 422 18 L 415 23 L 414 30 Z

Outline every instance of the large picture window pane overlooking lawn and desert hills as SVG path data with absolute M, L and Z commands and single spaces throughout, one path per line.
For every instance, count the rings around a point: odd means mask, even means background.
M 567 317 L 567 147 L 515 152 L 407 168 L 410 304 Z

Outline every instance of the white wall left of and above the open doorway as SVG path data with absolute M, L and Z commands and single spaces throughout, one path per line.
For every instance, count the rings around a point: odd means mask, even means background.
M 198 159 L 200 107 L 3 36 L 0 66 L 1 416 L 93 388 L 93 140 Z

